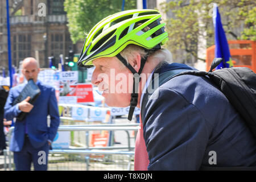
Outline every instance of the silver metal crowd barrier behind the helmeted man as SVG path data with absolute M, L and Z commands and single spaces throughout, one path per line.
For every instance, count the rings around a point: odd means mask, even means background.
M 8 133 L 8 138 L 10 141 L 11 133 L 13 132 L 14 127 L 11 127 Z M 69 158 L 71 155 L 79 155 L 76 158 L 82 159 L 79 160 L 80 163 L 85 163 L 86 167 L 82 167 L 82 169 L 89 170 L 90 166 L 92 166 L 92 160 L 94 158 L 91 155 L 97 156 L 101 155 L 100 159 L 97 159 L 99 163 L 106 163 L 105 157 L 108 158 L 108 164 L 112 164 L 112 166 L 115 165 L 115 163 L 120 163 L 120 161 L 125 161 L 127 162 L 127 170 L 131 170 L 131 161 L 134 158 L 134 151 L 131 151 L 132 148 L 130 145 L 130 134 L 129 131 L 137 131 L 139 129 L 139 124 L 134 123 L 134 124 L 125 124 L 125 125 L 117 125 L 117 124 L 104 124 L 104 125 L 61 125 L 59 126 L 58 131 L 93 131 L 93 130 L 108 130 L 108 131 L 126 131 L 127 138 L 128 138 L 128 146 L 127 147 L 114 147 L 114 146 L 109 146 L 109 147 L 89 147 L 88 145 L 88 135 L 85 135 L 86 137 L 86 147 L 70 147 L 68 149 L 53 149 L 49 151 L 48 156 L 48 166 L 51 163 L 51 158 L 56 158 L 59 157 L 58 155 L 64 154 L 65 158 Z M 117 149 L 127 149 L 128 151 L 117 151 Z M 115 151 L 113 151 L 115 150 Z M 5 170 L 7 169 L 7 157 L 9 159 L 9 170 L 11 171 L 12 168 L 12 152 L 9 150 L 5 150 L 5 164 L 4 168 Z M 102 159 L 102 155 L 104 155 L 104 159 Z M 114 155 L 118 156 L 116 159 L 114 159 Z M 127 156 L 127 159 L 124 159 L 123 157 L 121 158 L 120 156 Z M 96 159 L 96 158 L 95 158 Z M 65 160 L 64 162 L 66 162 Z M 110 161 L 110 162 L 109 162 Z M 63 162 L 63 161 L 62 161 Z M 63 162 L 63 163 L 64 163 Z M 74 165 L 77 165 L 74 164 Z M 106 170 L 109 169 L 109 167 L 104 168 Z M 55 169 L 56 170 L 56 169 Z M 67 169 L 65 169 L 67 170 Z M 98 170 L 98 169 L 97 169 Z M 120 170 L 120 168 L 118 168 Z

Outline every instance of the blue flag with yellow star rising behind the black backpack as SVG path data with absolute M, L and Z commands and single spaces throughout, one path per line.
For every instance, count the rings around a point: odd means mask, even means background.
M 222 27 L 220 13 L 218 13 L 218 6 L 213 8 L 213 25 L 215 30 L 215 57 L 222 57 L 223 59 L 216 69 L 233 67 L 229 44 Z

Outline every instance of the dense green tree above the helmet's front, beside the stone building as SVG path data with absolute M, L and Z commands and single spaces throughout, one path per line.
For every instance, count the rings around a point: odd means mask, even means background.
M 136 0 L 125 2 L 125 10 L 135 9 Z M 121 0 L 65 0 L 68 28 L 72 42 L 84 39 L 90 29 L 101 19 L 122 9 Z

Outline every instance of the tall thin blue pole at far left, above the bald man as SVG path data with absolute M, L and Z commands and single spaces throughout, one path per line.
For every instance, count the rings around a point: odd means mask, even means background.
M 9 0 L 6 0 L 6 15 L 7 15 L 7 39 L 8 39 L 8 63 L 10 75 L 10 88 L 13 86 L 13 72 L 11 64 L 11 34 L 10 34 L 10 19 L 9 19 Z

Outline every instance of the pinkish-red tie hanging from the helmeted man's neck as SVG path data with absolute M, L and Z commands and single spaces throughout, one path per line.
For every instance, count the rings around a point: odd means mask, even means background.
M 143 126 L 141 121 L 141 114 L 139 114 L 139 130 L 135 142 L 134 151 L 134 170 L 135 171 L 147 171 L 147 166 L 149 164 L 147 149 L 145 140 L 143 137 Z

